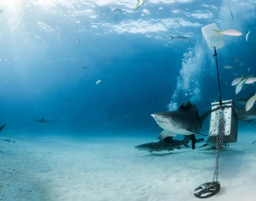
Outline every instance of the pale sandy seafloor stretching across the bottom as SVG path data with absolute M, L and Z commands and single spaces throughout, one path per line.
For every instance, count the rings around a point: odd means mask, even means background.
M 149 153 L 134 146 L 157 142 L 153 136 L 121 136 L 28 137 L 3 132 L 1 139 L 16 142 L 0 141 L 0 201 L 200 200 L 193 191 L 212 181 L 215 150 L 182 147 Z M 221 191 L 207 200 L 256 200 L 253 141 L 255 132 L 239 132 L 238 142 L 221 150 Z

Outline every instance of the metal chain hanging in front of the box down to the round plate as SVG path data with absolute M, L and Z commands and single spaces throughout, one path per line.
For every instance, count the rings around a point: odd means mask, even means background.
M 220 149 L 222 147 L 223 144 L 223 137 L 224 137 L 224 125 L 223 125 L 223 111 L 222 108 L 220 107 L 220 113 L 218 116 L 218 134 L 216 136 L 216 163 L 215 163 L 215 170 L 214 170 L 214 174 L 213 174 L 213 178 L 212 181 L 214 182 L 214 180 L 216 179 L 216 181 L 218 182 L 218 159 L 219 159 L 219 155 L 220 155 Z

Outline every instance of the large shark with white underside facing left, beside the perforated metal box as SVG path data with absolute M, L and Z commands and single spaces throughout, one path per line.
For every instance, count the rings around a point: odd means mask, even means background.
M 176 137 L 179 135 L 203 135 L 198 132 L 203 127 L 204 120 L 209 116 L 211 110 L 208 110 L 201 117 L 197 113 L 196 105 L 192 105 L 187 111 L 170 111 L 170 112 L 160 112 L 153 113 L 151 116 L 157 124 L 164 130 L 158 136 L 158 139 L 164 139 L 169 136 Z

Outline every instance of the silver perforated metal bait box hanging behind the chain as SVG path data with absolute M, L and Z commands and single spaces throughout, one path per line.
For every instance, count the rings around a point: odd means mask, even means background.
M 224 143 L 232 143 L 237 141 L 238 132 L 238 108 L 235 102 L 227 100 L 222 102 L 223 110 L 223 123 L 224 123 Z M 209 137 L 216 141 L 216 135 L 218 134 L 218 122 L 219 122 L 220 103 L 212 103 L 211 122 L 209 128 Z

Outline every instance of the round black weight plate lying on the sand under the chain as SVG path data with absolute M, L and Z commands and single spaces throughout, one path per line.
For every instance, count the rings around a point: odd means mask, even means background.
M 197 198 L 209 198 L 216 195 L 221 190 L 221 184 L 218 181 L 208 182 L 200 185 L 194 191 Z

